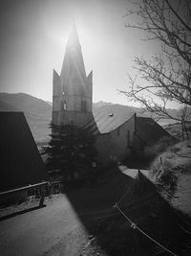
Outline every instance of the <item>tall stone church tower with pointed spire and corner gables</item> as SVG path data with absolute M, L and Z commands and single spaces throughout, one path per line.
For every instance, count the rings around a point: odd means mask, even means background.
M 92 114 L 93 72 L 86 77 L 75 26 L 69 36 L 60 76 L 53 70 L 53 124 L 83 126 Z

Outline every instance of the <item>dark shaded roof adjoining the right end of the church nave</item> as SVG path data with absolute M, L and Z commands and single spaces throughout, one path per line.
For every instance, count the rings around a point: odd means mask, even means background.
M 148 146 L 154 145 L 162 137 L 170 136 L 165 129 L 149 117 L 137 117 L 136 130 L 138 137 Z

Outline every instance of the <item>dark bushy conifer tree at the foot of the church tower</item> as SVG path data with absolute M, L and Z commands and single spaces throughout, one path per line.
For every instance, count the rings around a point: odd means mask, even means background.
M 48 170 L 60 170 L 63 177 L 91 175 L 96 162 L 96 138 L 89 128 L 74 124 L 55 126 L 44 153 L 48 154 Z

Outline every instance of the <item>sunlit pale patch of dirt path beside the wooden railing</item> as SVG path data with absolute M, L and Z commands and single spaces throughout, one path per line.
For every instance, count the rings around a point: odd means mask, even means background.
M 88 233 L 64 195 L 47 207 L 0 221 L 0 255 L 79 255 Z

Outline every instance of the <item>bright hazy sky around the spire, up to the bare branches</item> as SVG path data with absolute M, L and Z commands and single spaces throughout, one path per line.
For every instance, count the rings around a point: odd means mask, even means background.
M 125 28 L 128 8 L 127 0 L 1 0 L 0 91 L 52 102 L 53 69 L 60 74 L 74 19 L 93 102 L 130 105 L 118 89 L 128 89 L 134 58 L 158 46 Z

